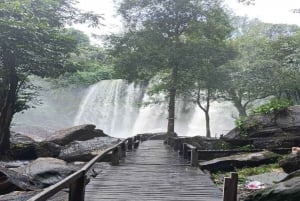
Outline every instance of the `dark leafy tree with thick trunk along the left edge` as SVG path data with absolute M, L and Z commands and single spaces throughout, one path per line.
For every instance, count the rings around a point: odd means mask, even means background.
M 76 41 L 66 24 L 89 22 L 101 17 L 83 13 L 74 0 L 0 1 L 0 155 L 9 150 L 10 124 L 20 99 L 19 89 L 29 75 L 58 76 L 72 70 L 67 63 Z

